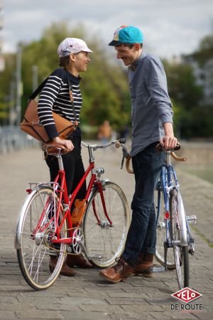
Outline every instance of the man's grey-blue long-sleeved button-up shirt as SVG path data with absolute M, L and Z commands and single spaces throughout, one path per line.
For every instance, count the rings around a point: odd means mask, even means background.
M 136 156 L 146 146 L 164 136 L 165 122 L 173 123 L 165 71 L 159 58 L 141 53 L 129 68 L 129 90 L 132 121 L 131 156 Z

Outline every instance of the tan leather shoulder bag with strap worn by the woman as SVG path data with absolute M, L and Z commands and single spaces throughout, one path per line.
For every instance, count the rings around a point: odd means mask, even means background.
M 29 134 L 31 137 L 37 139 L 40 142 L 43 143 L 49 143 L 51 142 L 51 139 L 48 137 L 48 134 L 45 131 L 45 128 L 42 124 L 39 122 L 38 118 L 38 102 L 34 100 L 34 98 L 38 95 L 40 90 L 43 89 L 45 86 L 45 83 L 47 82 L 48 78 L 45 79 L 40 86 L 32 93 L 30 100 L 28 102 L 28 107 L 26 109 L 26 112 L 23 117 L 23 122 L 20 124 L 21 130 Z M 70 85 L 70 81 L 67 77 L 67 81 L 69 84 L 69 90 L 70 90 L 70 100 L 72 102 L 72 109 L 73 113 L 75 115 L 75 122 L 69 121 L 63 117 L 61 117 L 59 114 L 53 112 L 53 118 L 55 120 L 55 127 L 58 131 L 59 137 L 61 139 L 67 139 L 67 137 L 72 134 L 72 132 L 77 128 L 77 116 L 75 112 L 75 106 L 73 102 L 72 97 L 72 87 Z

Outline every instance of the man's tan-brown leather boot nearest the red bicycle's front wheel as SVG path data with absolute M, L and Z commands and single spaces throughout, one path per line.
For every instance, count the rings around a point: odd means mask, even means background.
M 110 267 L 103 271 L 100 271 L 99 275 L 104 279 L 107 279 L 109 282 L 116 283 L 124 281 L 127 277 L 133 275 L 131 270 L 132 266 L 129 264 L 129 262 L 121 257 L 117 264 L 114 265 L 114 267 Z

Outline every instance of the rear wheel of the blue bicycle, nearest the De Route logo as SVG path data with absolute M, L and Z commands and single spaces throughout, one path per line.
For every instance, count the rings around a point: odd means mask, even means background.
M 185 213 L 181 210 L 182 198 L 180 191 L 174 188 L 170 192 L 170 215 L 171 215 L 171 238 L 173 242 L 173 251 L 175 259 L 175 269 L 180 289 L 190 285 L 190 267 L 188 246 L 181 245 L 182 221 L 185 219 Z M 186 231 L 185 231 L 186 232 Z M 185 235 L 183 238 L 187 237 Z

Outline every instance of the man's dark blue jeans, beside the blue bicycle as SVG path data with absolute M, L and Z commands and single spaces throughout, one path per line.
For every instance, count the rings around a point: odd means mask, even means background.
M 160 176 L 165 154 L 156 151 L 157 142 L 132 158 L 136 180 L 131 203 L 132 220 L 126 239 L 123 257 L 135 265 L 141 252 L 155 254 L 156 225 L 153 194 Z

